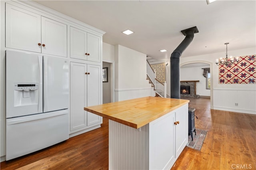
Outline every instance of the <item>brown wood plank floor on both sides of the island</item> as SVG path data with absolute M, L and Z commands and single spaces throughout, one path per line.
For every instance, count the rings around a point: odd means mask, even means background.
M 201 151 L 185 147 L 172 170 L 256 170 L 256 115 L 210 110 L 210 99 L 189 99 L 196 128 L 208 130 Z M 49 148 L 1 162 L 1 170 L 108 169 L 108 119 L 101 128 Z

